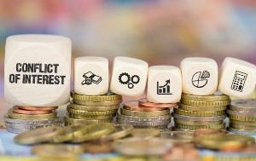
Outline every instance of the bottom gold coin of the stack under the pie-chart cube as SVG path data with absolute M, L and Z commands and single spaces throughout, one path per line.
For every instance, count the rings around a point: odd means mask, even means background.
M 189 130 L 195 130 L 195 129 L 224 129 L 224 124 L 211 124 L 211 125 L 188 125 L 188 124 L 178 124 L 175 123 L 175 128 L 177 129 L 189 129 Z

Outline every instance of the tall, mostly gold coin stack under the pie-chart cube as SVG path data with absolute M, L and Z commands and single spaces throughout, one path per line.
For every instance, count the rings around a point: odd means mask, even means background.
M 224 129 L 225 109 L 230 105 L 228 95 L 183 94 L 178 108 L 174 108 L 175 129 Z

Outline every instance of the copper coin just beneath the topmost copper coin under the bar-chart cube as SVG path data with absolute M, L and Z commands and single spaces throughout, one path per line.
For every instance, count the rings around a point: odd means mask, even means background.
M 138 101 L 128 101 L 124 103 L 123 108 L 126 110 L 131 110 L 131 111 L 137 111 L 137 112 L 154 112 L 154 111 L 162 111 L 165 108 L 157 108 L 157 107 L 144 107 L 144 106 L 139 106 Z

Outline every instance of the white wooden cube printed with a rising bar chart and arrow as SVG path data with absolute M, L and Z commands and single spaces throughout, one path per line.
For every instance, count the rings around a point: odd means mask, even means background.
M 182 74 L 177 66 L 150 66 L 148 69 L 148 101 L 176 103 L 182 94 Z

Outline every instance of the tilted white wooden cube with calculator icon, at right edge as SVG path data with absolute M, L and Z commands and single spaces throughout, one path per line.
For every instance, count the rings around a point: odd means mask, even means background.
M 226 95 L 246 99 L 253 95 L 256 66 L 245 60 L 225 58 L 221 67 L 218 90 Z

